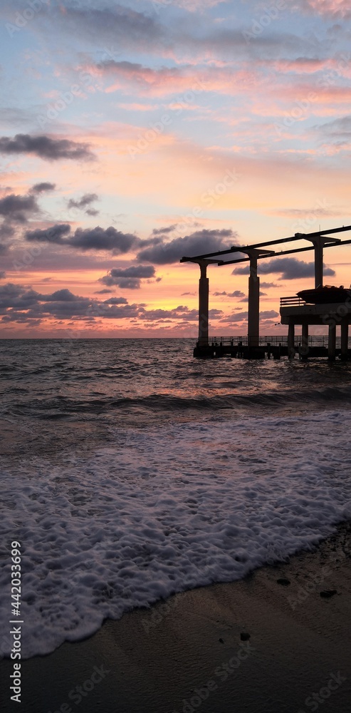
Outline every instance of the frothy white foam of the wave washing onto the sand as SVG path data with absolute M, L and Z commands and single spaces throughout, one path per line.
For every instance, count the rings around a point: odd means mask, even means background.
M 119 429 L 90 459 L 3 473 L 2 529 L 23 543 L 23 657 L 318 543 L 351 516 L 350 426 L 342 411 Z

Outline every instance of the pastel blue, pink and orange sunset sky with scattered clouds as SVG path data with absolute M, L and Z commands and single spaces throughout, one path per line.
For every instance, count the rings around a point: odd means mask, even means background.
M 2 0 L 0 338 L 196 339 L 184 255 L 350 225 L 350 39 L 350 0 Z M 284 334 L 313 252 L 259 274 Z M 246 334 L 246 265 L 208 275 Z

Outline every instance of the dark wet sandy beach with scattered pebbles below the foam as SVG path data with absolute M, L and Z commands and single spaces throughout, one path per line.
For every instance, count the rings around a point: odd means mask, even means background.
M 313 552 L 22 662 L 24 713 L 350 711 L 351 523 Z M 1 710 L 12 663 L 1 664 Z

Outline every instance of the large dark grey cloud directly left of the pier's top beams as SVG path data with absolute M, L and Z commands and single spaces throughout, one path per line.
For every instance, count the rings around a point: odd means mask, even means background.
M 191 235 L 176 237 L 170 242 L 162 241 L 159 245 L 141 250 L 137 257 L 146 262 L 155 262 L 156 265 L 167 265 L 179 262 L 181 257 L 225 250 L 231 247 L 234 237 L 236 232 L 233 230 L 198 230 Z

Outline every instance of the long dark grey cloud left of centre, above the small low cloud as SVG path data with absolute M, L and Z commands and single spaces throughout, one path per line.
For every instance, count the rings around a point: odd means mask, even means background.
M 58 245 L 75 247 L 78 250 L 110 250 L 112 255 L 129 252 L 135 245 L 140 245 L 140 239 L 132 233 L 124 233 L 115 227 L 103 228 L 98 225 L 94 228 L 78 227 L 71 235 L 70 225 L 62 223 L 53 225 L 45 230 L 28 230 L 25 234 L 28 242 L 53 242 Z M 67 237 L 63 239 L 64 236 Z

